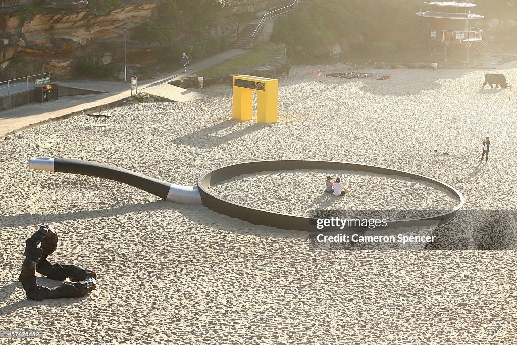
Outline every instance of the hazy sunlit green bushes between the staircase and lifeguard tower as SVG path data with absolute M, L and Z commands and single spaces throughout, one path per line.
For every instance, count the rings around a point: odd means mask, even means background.
M 359 35 L 363 42 L 354 49 L 392 52 L 397 50 L 396 41 L 413 37 L 419 19 L 416 11 L 413 0 L 317 0 L 306 11 L 279 18 L 271 39 L 285 42 L 290 56 L 299 52 L 318 55 L 324 47 Z M 410 34 L 401 37 L 403 32 Z

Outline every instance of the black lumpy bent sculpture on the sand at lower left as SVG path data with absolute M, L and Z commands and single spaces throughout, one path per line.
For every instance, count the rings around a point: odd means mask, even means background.
M 41 246 L 40 246 L 41 245 Z M 57 247 L 57 234 L 48 224 L 25 241 L 25 259 L 18 281 L 29 299 L 43 301 L 45 298 L 81 297 L 95 290 L 97 276 L 89 269 L 75 265 L 51 264 L 47 257 Z M 53 280 L 66 281 L 56 288 L 38 286 L 36 271 Z

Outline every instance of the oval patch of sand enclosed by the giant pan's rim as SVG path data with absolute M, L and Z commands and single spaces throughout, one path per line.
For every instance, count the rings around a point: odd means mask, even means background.
M 327 175 L 341 178 L 348 190 L 344 197 L 323 193 Z M 317 210 L 449 211 L 459 204 L 445 188 L 431 183 L 359 171 L 284 170 L 245 174 L 211 186 L 209 191 L 248 207 L 303 217 L 310 217 Z

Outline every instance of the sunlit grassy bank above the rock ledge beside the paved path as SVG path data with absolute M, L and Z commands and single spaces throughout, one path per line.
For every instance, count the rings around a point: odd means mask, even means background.
M 251 52 L 234 56 L 220 64 L 205 68 L 197 72 L 195 75 L 204 78 L 211 78 L 236 74 L 243 69 L 260 66 L 271 61 L 273 57 L 278 56 L 279 52 L 280 48 L 278 43 L 257 43 Z

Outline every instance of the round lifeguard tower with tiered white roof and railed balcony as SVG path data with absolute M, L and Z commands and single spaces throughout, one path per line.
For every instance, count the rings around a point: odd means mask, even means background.
M 467 50 L 466 59 L 469 59 L 469 50 L 473 44 L 480 44 L 486 47 L 483 42 L 483 29 L 471 27 L 469 21 L 483 19 L 484 16 L 470 12 L 476 4 L 459 3 L 455 1 L 426 1 L 430 6 L 429 11 L 418 12 L 417 16 L 431 18 L 430 41 L 436 49 L 436 42 L 444 44 L 444 58 L 454 56 L 455 47 L 465 47 Z

